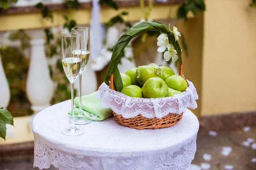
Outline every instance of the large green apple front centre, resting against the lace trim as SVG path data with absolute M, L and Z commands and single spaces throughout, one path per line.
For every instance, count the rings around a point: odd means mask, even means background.
M 149 78 L 142 88 L 144 98 L 161 98 L 167 97 L 169 93 L 168 86 L 159 77 Z

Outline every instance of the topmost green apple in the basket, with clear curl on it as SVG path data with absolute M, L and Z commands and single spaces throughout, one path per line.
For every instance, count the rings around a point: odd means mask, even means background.
M 140 85 L 144 85 L 144 83 L 151 77 L 160 77 L 155 73 L 155 68 L 150 65 L 139 66 L 136 71 L 136 78 Z

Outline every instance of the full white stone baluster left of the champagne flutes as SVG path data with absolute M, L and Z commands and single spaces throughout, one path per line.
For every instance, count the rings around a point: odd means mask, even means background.
M 44 51 L 44 31 L 42 29 L 26 30 L 31 37 L 31 58 L 26 94 L 34 114 L 50 106 L 53 94 L 53 82 Z

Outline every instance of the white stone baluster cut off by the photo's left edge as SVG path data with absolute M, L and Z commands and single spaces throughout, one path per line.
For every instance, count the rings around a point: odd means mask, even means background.
M 1 44 L 0 44 L 1 48 Z M 3 70 L 3 64 L 0 55 L 0 106 L 7 108 L 10 102 L 10 88 Z

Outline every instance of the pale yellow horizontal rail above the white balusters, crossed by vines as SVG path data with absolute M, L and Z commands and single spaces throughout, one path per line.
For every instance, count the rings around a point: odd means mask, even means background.
M 178 7 L 179 5 L 177 4 L 155 5 L 151 12 L 151 18 L 153 20 L 174 18 L 176 17 Z M 120 14 L 122 11 L 127 11 L 129 13 L 129 15 L 124 16 L 124 19 L 127 21 L 138 21 L 143 17 L 140 6 L 120 7 L 119 10 L 102 8 L 101 22 L 107 23 L 111 17 Z M 74 10 L 73 18 L 75 18 L 78 25 L 89 24 L 91 17 L 90 12 L 90 8 Z M 51 23 L 50 20 L 43 19 L 40 12 L 0 15 L 0 31 L 60 26 L 65 23 L 63 15 L 69 16 L 68 10 L 52 11 L 53 23 Z M 191 17 L 191 15 L 188 15 L 188 17 Z

